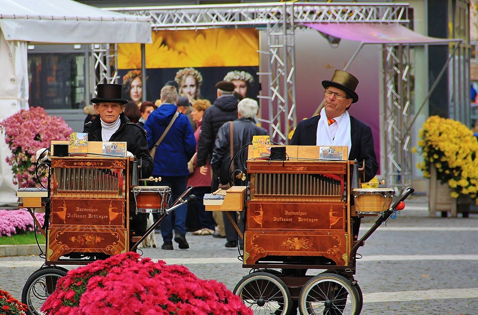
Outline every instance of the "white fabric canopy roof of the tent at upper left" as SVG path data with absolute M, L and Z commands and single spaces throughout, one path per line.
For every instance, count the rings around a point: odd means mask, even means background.
M 152 43 L 148 18 L 72 0 L 2 0 L 0 27 L 7 41 Z

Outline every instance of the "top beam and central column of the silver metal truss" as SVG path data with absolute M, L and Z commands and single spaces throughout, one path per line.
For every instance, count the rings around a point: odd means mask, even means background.
M 240 5 L 240 6 L 239 6 Z M 267 46 L 260 53 L 268 61 L 261 69 L 261 106 L 267 107 L 272 139 L 287 143 L 295 127 L 294 29 L 306 22 L 399 23 L 408 22 L 407 4 L 393 3 L 241 3 L 158 7 L 108 8 L 148 17 L 153 30 L 203 29 L 211 27 L 257 27 L 264 30 Z M 267 126 L 266 126 L 267 127 Z

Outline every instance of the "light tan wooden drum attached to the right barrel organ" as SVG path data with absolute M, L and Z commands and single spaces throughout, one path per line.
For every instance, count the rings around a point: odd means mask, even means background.
M 391 188 L 355 188 L 352 195 L 357 214 L 376 214 L 384 212 L 391 205 L 395 191 Z

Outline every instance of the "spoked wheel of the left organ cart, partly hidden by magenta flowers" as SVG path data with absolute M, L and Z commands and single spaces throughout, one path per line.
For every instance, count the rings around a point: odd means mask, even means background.
M 40 311 L 46 298 L 56 289 L 58 279 L 65 276 L 62 269 L 40 269 L 28 278 L 22 290 L 22 303 L 28 306 L 29 315 L 43 315 Z

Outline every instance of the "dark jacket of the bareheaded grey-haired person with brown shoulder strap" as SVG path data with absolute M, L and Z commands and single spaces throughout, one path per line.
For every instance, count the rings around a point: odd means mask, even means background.
M 219 182 L 221 184 L 227 184 L 229 182 L 230 172 L 229 163 L 230 159 L 230 127 L 232 123 L 232 142 L 233 142 L 233 154 L 239 152 L 239 149 L 250 143 L 253 136 L 263 136 L 269 133 L 264 128 L 257 126 L 252 119 L 239 118 L 232 122 L 227 122 L 221 126 L 217 132 L 217 138 L 214 142 L 214 149 L 211 159 L 211 167 L 213 174 L 218 174 Z M 234 159 L 234 170 L 240 169 L 244 174 L 246 169 L 247 160 L 247 147 L 242 151 L 242 154 L 238 154 Z M 239 173 L 239 172 L 238 172 Z M 237 175 L 238 173 L 234 173 Z M 235 179 L 235 185 L 245 185 L 244 182 Z

